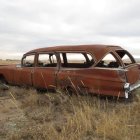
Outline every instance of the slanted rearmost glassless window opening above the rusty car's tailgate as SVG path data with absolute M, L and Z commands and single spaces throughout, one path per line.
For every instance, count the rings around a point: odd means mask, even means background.
M 119 57 L 121 58 L 121 60 L 125 66 L 135 63 L 134 58 L 127 51 L 118 50 L 118 51 L 116 51 L 116 53 L 119 55 Z

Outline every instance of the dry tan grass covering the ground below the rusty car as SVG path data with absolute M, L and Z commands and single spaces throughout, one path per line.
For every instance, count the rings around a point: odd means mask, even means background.
M 18 117 L 1 121 L 0 139 L 140 139 L 139 91 L 131 103 L 91 96 L 69 97 L 61 92 L 37 94 L 34 89 L 18 87 L 10 87 L 7 92 Z

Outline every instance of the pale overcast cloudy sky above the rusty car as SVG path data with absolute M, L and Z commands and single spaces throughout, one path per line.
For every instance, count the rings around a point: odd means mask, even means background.
M 140 0 L 0 0 L 0 58 L 72 44 L 121 45 L 140 55 Z

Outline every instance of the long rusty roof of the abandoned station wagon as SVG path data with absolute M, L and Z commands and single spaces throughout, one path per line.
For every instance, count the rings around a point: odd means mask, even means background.
M 115 45 L 64 45 L 34 49 L 32 51 L 27 52 L 26 54 L 37 52 L 87 51 L 89 53 L 92 53 L 98 61 L 108 52 L 115 50 L 123 49 L 120 46 Z

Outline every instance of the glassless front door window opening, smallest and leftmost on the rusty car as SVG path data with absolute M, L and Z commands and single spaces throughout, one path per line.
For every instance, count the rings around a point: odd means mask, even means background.
M 24 67 L 34 67 L 34 59 L 35 59 L 35 55 L 27 55 L 23 58 L 22 60 L 22 65 Z

